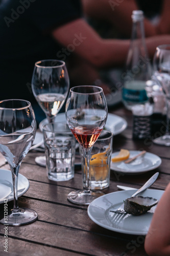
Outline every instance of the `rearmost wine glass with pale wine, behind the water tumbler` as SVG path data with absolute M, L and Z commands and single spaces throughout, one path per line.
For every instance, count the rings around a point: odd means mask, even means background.
M 35 63 L 32 76 L 32 90 L 47 122 L 53 123 L 61 110 L 69 90 L 69 77 L 64 61 L 47 59 Z M 45 156 L 37 157 L 45 163 Z

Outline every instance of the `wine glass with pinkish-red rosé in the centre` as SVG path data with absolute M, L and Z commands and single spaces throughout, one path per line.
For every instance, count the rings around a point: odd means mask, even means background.
M 96 86 L 77 86 L 70 89 L 65 109 L 66 121 L 82 147 L 85 166 L 85 188 L 72 191 L 67 199 L 76 204 L 90 204 L 103 195 L 89 188 L 89 161 L 92 146 L 101 134 L 108 110 L 103 89 Z

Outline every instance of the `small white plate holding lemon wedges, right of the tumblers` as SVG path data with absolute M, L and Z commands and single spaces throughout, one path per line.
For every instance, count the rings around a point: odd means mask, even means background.
M 141 151 L 130 151 L 130 157 L 134 157 L 139 154 Z M 118 155 L 119 152 L 112 154 L 111 158 Z M 157 155 L 152 153 L 145 153 L 143 156 L 136 158 L 130 163 L 125 163 L 125 161 L 112 162 L 110 168 L 116 170 L 116 172 L 125 173 L 125 174 L 139 174 L 153 170 L 161 164 L 161 159 Z

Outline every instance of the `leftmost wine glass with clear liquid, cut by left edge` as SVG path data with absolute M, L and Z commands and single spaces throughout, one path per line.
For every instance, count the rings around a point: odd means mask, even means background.
M 21 99 L 0 101 L 0 152 L 10 165 L 13 180 L 14 207 L 8 216 L 1 213 L 0 223 L 20 226 L 37 219 L 32 209 L 19 208 L 17 198 L 18 172 L 22 159 L 34 141 L 36 121 L 31 103 Z

